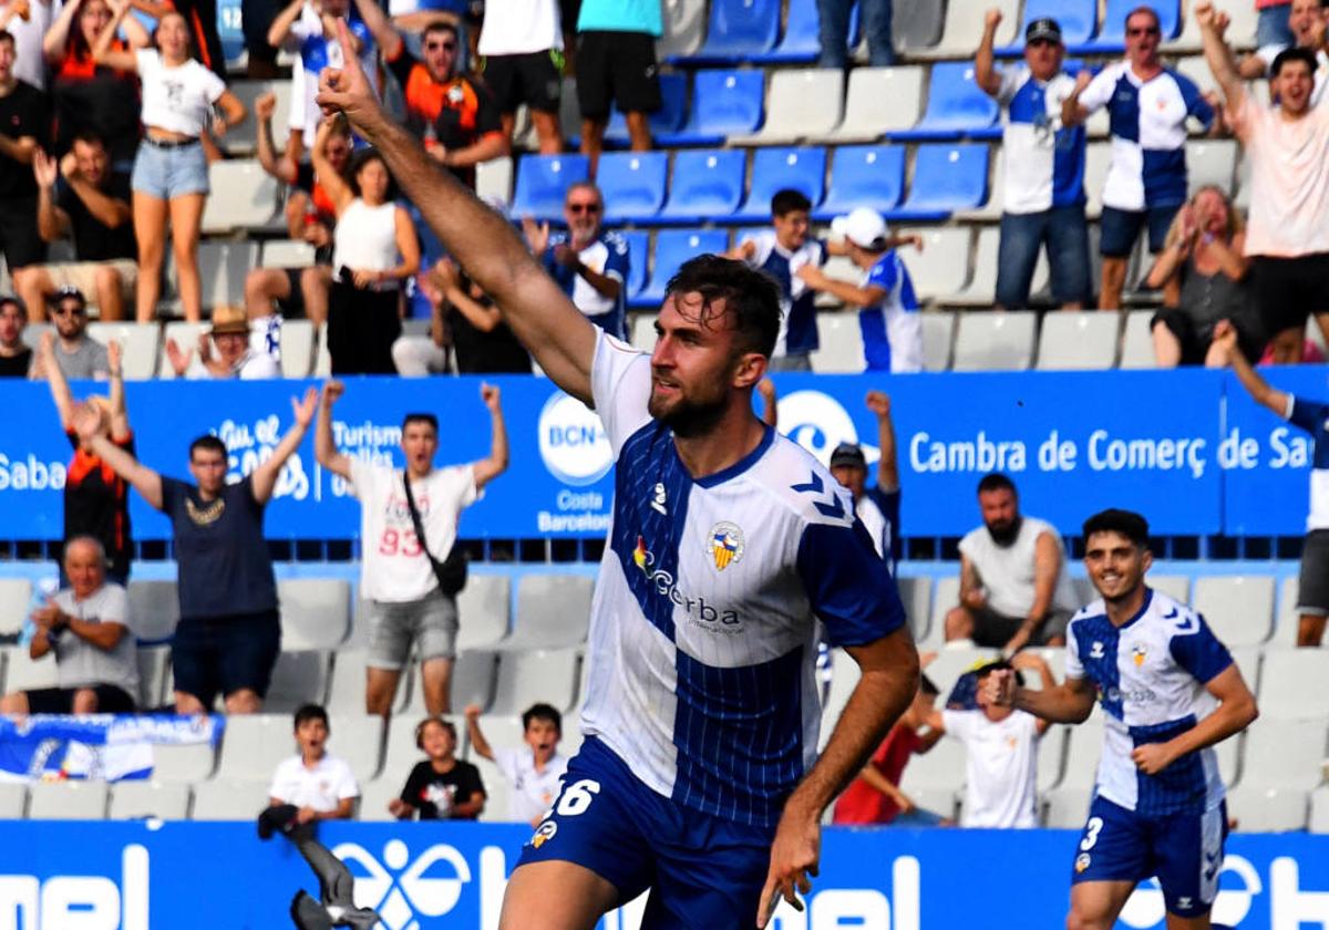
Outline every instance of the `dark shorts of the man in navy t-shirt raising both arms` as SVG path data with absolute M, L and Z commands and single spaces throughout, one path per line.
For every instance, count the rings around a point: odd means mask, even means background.
M 181 618 L 170 651 L 175 691 L 193 695 L 205 709 L 218 695 L 225 698 L 241 688 L 263 698 L 280 651 L 282 623 L 275 610 Z

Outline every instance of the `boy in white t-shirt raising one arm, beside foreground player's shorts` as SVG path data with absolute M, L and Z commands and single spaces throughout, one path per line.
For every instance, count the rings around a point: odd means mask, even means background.
M 496 751 L 480 731 L 480 708 L 474 704 L 466 708 L 470 747 L 482 759 L 494 763 L 512 785 L 509 820 L 537 826 L 558 796 L 567 769 L 567 759 L 558 752 L 563 717 L 549 704 L 532 704 L 521 715 L 521 725 L 525 728 L 526 748 Z

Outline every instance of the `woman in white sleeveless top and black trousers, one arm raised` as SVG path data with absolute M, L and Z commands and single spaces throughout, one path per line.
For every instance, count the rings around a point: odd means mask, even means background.
M 383 157 L 372 149 L 356 153 L 344 178 L 327 159 L 331 129 L 331 120 L 319 125 L 310 158 L 336 207 L 327 323 L 332 373 L 395 375 L 401 282 L 420 268 L 420 242 L 411 215 L 389 197 Z

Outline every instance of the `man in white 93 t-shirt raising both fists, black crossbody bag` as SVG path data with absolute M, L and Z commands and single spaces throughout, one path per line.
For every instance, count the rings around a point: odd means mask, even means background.
M 401 424 L 404 470 L 338 452 L 332 405 L 343 391 L 340 381 L 323 385 L 314 454 L 319 465 L 346 478 L 351 493 L 360 498 L 360 597 L 369 608 L 365 712 L 387 717 L 392 711 L 397 679 L 419 640 L 425 709 L 431 715 L 447 713 L 457 643 L 457 599 L 456 591 L 440 587 L 429 557 L 433 562 L 447 562 L 457 541 L 461 510 L 478 501 L 485 485 L 508 468 L 508 429 L 498 388 L 480 385 L 493 430 L 486 458 L 435 468 L 439 418 L 432 413 L 408 413 Z M 424 529 L 424 545 L 411 514 L 407 477 Z

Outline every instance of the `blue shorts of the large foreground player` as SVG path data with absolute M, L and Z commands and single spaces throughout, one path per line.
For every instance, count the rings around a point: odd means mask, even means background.
M 617 887 L 623 903 L 651 889 L 642 930 L 750 927 L 773 836 L 773 828 L 683 808 L 587 737 L 567 763 L 558 798 L 522 848 L 517 868 L 575 862 Z

